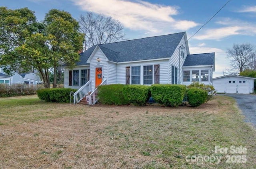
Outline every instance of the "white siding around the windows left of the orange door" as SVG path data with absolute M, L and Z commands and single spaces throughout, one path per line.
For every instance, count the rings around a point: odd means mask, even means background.
M 89 68 L 90 68 L 89 65 L 87 65 L 87 66 L 79 66 L 79 67 L 76 67 L 73 69 L 73 71 L 79 70 L 79 83 L 78 83 L 79 86 L 69 86 L 69 71 L 70 71 L 70 69 L 65 68 L 64 69 L 64 88 L 75 88 L 75 89 L 81 88 L 82 87 L 82 85 L 81 85 L 81 70 L 89 69 Z

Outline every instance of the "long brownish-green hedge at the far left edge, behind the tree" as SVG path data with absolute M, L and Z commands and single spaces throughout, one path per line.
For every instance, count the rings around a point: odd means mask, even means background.
M 44 88 L 43 85 L 24 85 L 24 84 L 0 84 L 0 97 L 22 96 L 36 94 L 38 89 Z

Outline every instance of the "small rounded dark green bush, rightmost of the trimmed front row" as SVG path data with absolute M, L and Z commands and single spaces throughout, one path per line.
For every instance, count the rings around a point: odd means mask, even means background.
M 208 93 L 202 88 L 191 87 L 187 90 L 188 103 L 197 107 L 206 102 Z

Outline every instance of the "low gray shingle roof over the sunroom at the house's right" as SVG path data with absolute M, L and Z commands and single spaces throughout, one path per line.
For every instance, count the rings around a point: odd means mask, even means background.
M 183 66 L 214 65 L 215 53 L 187 55 Z

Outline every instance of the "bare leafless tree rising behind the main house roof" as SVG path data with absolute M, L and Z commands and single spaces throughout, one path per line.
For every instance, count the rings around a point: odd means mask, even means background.
M 80 15 L 79 23 L 86 40 L 84 48 L 124 40 L 122 24 L 111 16 L 88 12 L 85 16 Z

